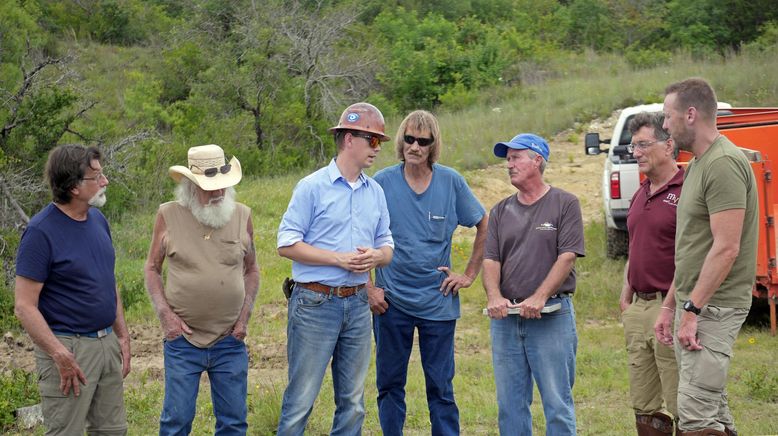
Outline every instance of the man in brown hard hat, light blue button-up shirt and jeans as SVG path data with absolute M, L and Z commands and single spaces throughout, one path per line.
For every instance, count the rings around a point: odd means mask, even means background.
M 392 260 L 394 242 L 381 186 L 362 170 L 381 150 L 384 117 L 356 103 L 330 129 L 337 158 L 302 179 L 278 229 L 278 254 L 293 261 L 287 359 L 278 435 L 302 435 L 332 359 L 332 435 L 361 434 L 370 363 L 370 270 Z

